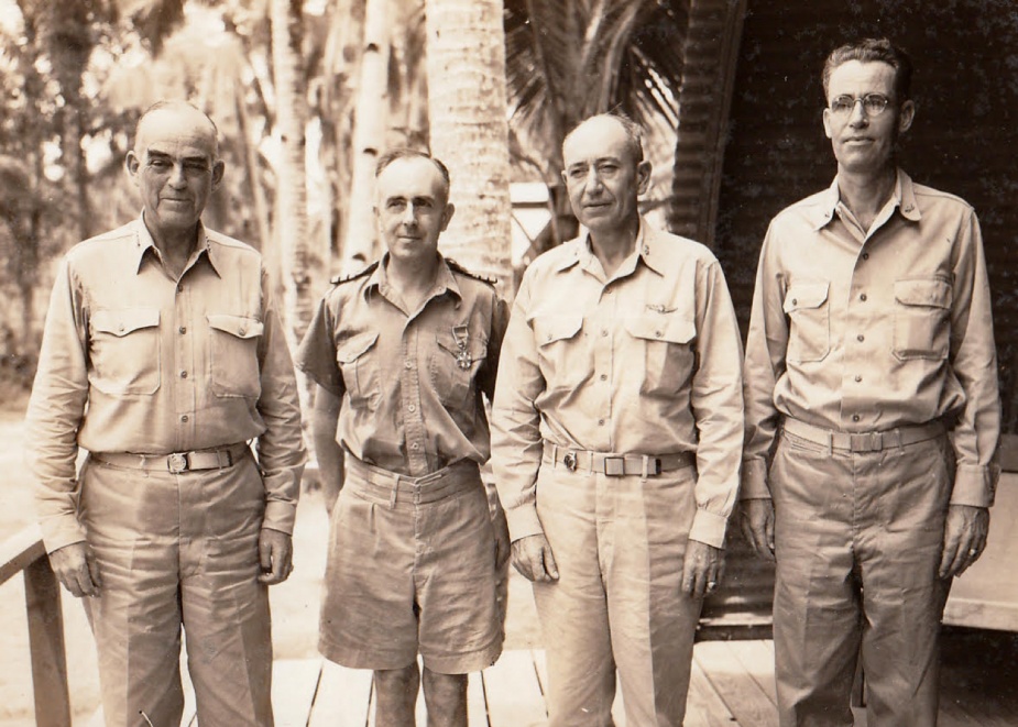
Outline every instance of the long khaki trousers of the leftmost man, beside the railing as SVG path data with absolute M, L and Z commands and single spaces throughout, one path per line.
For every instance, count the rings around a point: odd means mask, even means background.
M 102 588 L 85 605 L 109 727 L 180 724 L 182 625 L 201 727 L 273 724 L 269 594 L 256 581 L 264 500 L 250 454 L 182 474 L 86 462 Z

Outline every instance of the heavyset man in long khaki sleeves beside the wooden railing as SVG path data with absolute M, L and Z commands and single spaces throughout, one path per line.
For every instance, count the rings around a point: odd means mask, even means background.
M 28 412 L 43 540 L 88 596 L 107 725 L 180 724 L 182 625 L 202 727 L 272 725 L 266 586 L 292 569 L 305 461 L 293 364 L 260 255 L 201 223 L 212 121 L 155 104 L 127 170 L 141 218 L 72 249 L 53 287 Z

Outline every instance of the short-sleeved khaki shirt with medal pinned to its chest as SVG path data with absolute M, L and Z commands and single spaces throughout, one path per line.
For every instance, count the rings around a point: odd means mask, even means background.
M 336 439 L 357 459 L 419 477 L 488 461 L 488 418 L 507 311 L 490 283 L 442 260 L 427 300 L 407 310 L 385 262 L 321 301 L 297 366 L 342 398 Z

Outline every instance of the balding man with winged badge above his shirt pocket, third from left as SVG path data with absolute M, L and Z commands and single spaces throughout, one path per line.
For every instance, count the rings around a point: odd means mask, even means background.
M 513 563 L 534 582 L 554 727 L 681 725 L 702 597 L 721 579 L 742 456 L 742 346 L 702 245 L 637 211 L 639 129 L 562 147 L 589 231 L 524 275 L 492 415 Z

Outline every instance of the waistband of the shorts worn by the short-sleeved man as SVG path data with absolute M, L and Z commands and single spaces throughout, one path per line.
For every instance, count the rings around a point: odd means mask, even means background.
M 481 485 L 481 470 L 473 460 L 458 460 L 422 477 L 383 470 L 349 452 L 344 463 L 347 473 L 355 475 L 352 480 L 346 480 L 344 488 L 349 486 L 358 495 L 387 504 L 391 508 L 404 498 L 416 505 L 425 505 Z

